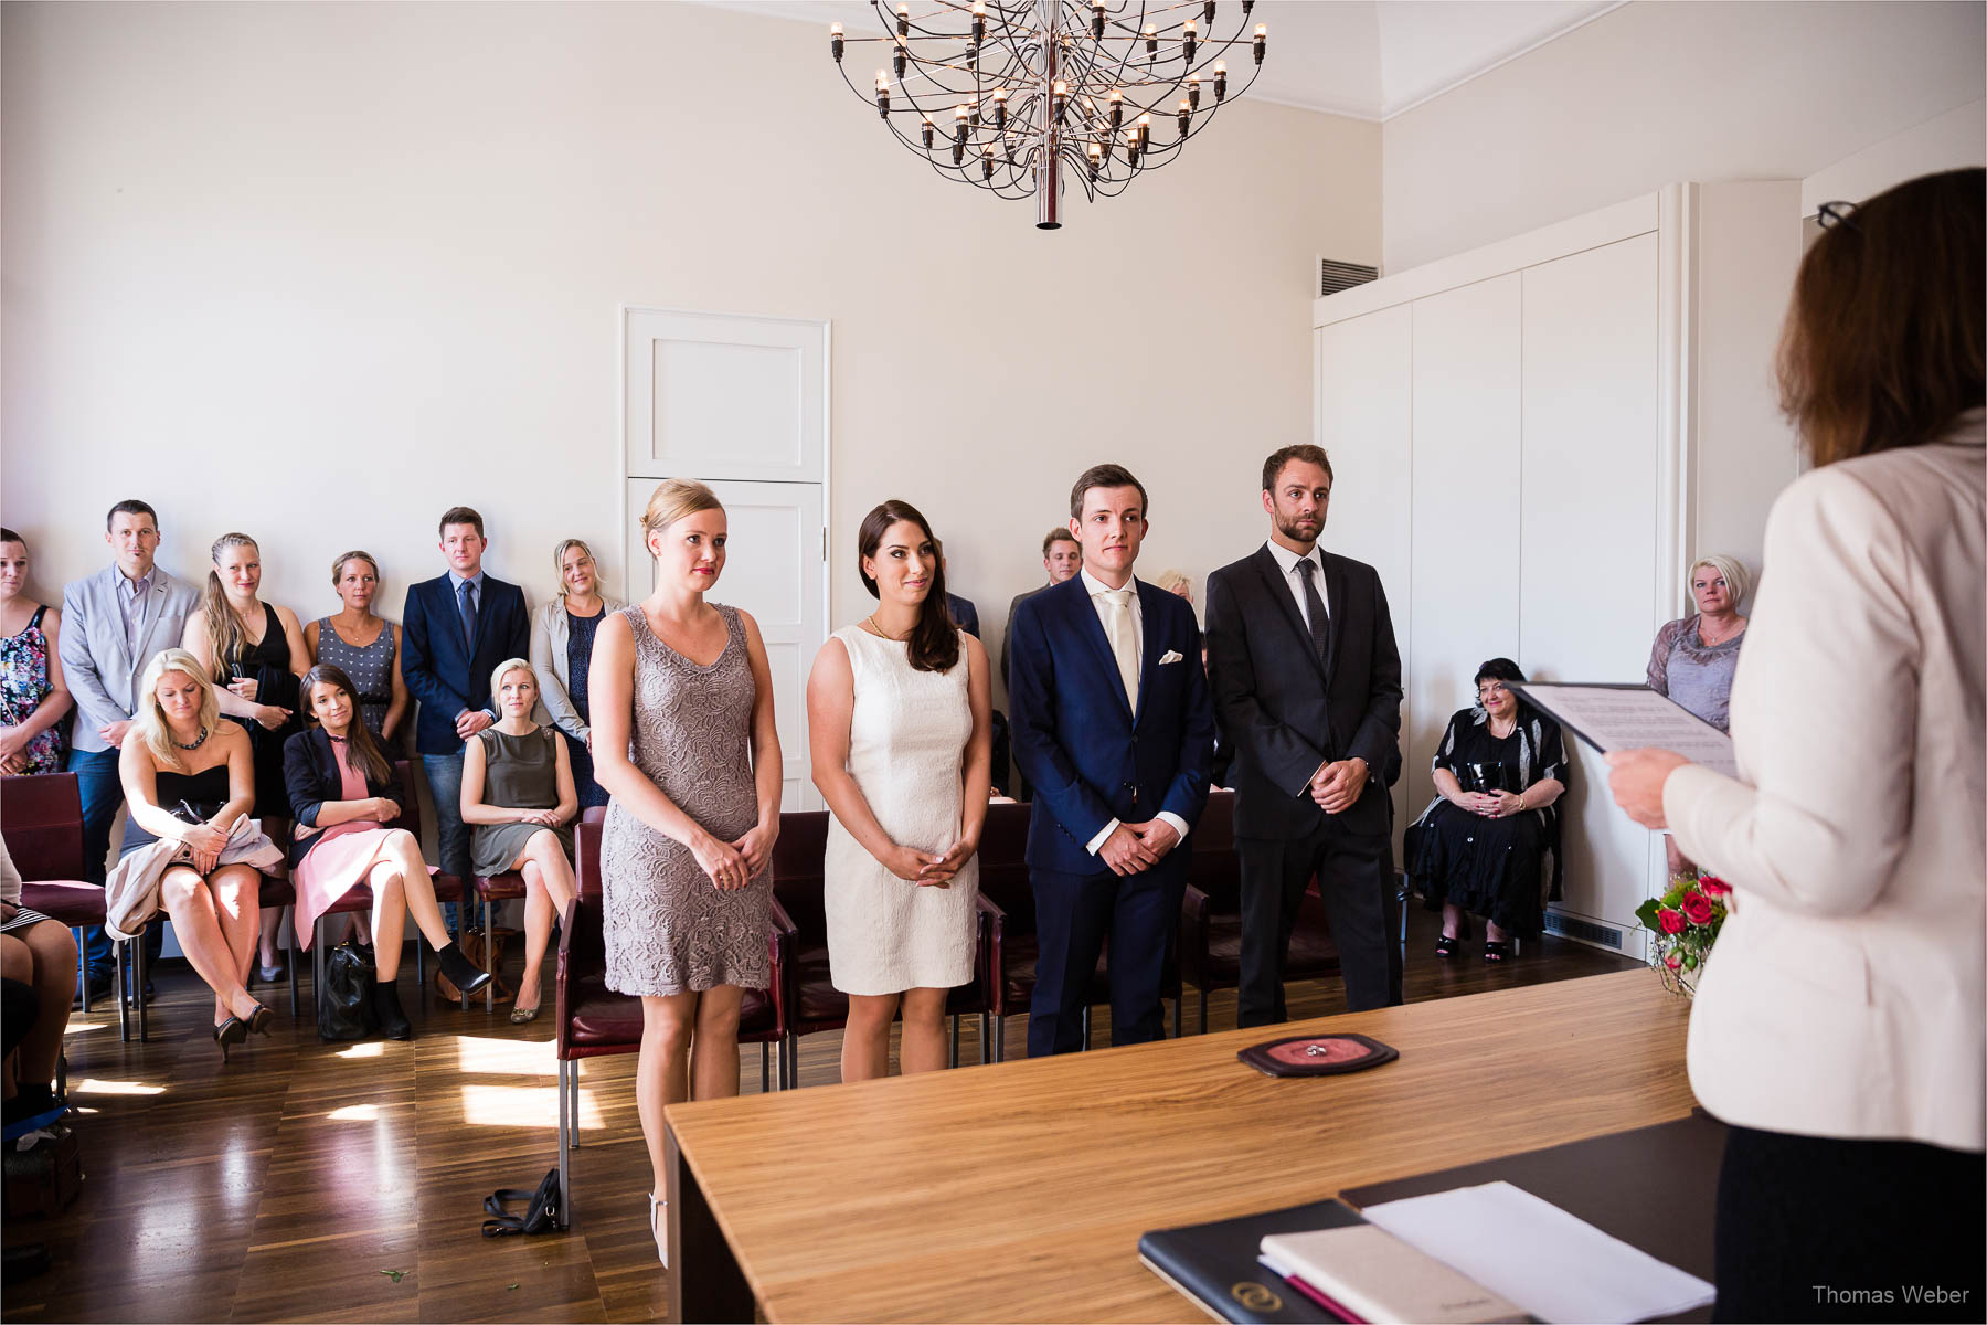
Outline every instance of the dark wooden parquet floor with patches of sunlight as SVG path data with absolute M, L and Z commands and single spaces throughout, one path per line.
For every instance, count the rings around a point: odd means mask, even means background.
M 1633 965 L 1556 938 L 1504 967 L 1486 967 L 1478 944 L 1445 963 L 1429 952 L 1433 920 L 1411 916 L 1409 1001 Z M 556 1162 L 550 1013 L 513 1027 L 501 1007 L 417 1007 L 409 963 L 413 1043 L 322 1045 L 308 1021 L 280 1017 L 223 1067 L 199 979 L 167 965 L 157 985 L 151 1043 L 119 1043 L 115 1015 L 70 1023 L 83 1194 L 60 1218 L 8 1222 L 6 1242 L 46 1242 L 54 1269 L 8 1283 L 0 1319 L 666 1319 L 632 1055 L 586 1065 L 572 1230 L 485 1240 L 483 1198 L 536 1186 Z M 1290 1009 L 1343 1011 L 1343 995 L 1337 981 L 1292 985 Z M 1232 1025 L 1228 991 L 1212 999 L 1210 1027 Z M 1009 1053 L 1023 1043 L 1017 1017 Z M 803 1041 L 801 1085 L 837 1081 L 839 1053 L 839 1035 Z M 978 1061 L 972 1021 L 960 1061 Z M 743 1051 L 741 1079 L 759 1089 L 757 1047 Z

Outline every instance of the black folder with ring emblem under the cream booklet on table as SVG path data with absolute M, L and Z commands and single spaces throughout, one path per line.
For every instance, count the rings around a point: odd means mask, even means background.
M 1200 1303 L 1216 1321 L 1236 1325 L 1337 1323 L 1315 1301 L 1284 1283 L 1256 1251 L 1268 1234 L 1303 1234 L 1315 1228 L 1365 1224 L 1351 1206 L 1317 1200 L 1309 1206 L 1246 1214 L 1238 1220 L 1162 1228 L 1139 1240 L 1146 1269 Z

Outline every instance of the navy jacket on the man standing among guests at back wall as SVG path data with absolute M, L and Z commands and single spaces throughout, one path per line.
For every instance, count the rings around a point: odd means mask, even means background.
M 507 658 L 531 658 L 531 612 L 525 608 L 525 590 L 483 572 L 477 638 L 465 648 L 455 580 L 443 572 L 407 588 L 399 636 L 399 669 L 407 677 L 407 689 L 421 701 L 413 747 L 423 755 L 455 755 L 463 749 L 463 739 L 455 735 L 455 715 L 463 709 L 495 711 L 491 671 Z

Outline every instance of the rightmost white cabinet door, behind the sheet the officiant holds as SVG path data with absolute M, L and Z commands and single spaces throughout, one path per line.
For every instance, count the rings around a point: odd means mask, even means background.
M 1528 268 L 1518 612 L 1538 679 L 1643 679 L 1661 624 L 1661 455 L 1655 236 Z M 1564 910 L 1635 946 L 1649 834 L 1615 810 L 1600 757 L 1568 745 Z

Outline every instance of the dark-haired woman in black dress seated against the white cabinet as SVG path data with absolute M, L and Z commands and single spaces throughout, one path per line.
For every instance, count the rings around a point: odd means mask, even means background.
M 1508 658 L 1476 669 L 1476 705 L 1449 719 L 1435 751 L 1439 795 L 1407 830 L 1409 878 L 1443 908 L 1437 957 L 1456 950 L 1468 912 L 1486 922 L 1484 961 L 1502 961 L 1512 938 L 1538 936 L 1560 892 L 1566 745 L 1556 721 L 1506 687 L 1522 679 Z

